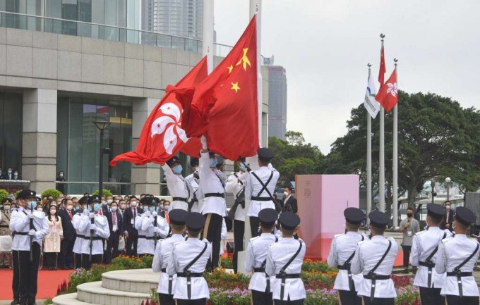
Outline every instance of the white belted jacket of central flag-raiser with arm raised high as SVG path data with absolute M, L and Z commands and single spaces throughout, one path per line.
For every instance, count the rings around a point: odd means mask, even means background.
M 225 194 L 222 178 L 215 172 L 216 169 L 210 168 L 210 158 L 208 152 L 200 153 L 200 189 L 203 193 L 202 213 L 218 214 L 222 217 L 227 216 L 227 203 L 223 197 L 208 197 L 208 194 Z

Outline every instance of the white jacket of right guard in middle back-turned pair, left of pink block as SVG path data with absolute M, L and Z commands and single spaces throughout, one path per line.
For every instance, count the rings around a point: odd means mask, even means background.
M 293 237 L 282 238 L 279 239 L 278 242 L 270 244 L 267 251 L 267 265 L 265 266 L 267 275 L 275 278 L 275 275 L 280 273 L 280 270 L 292 259 L 292 256 L 294 256 L 299 249 L 299 244 L 300 241 Z M 285 273 L 301 273 L 301 264 L 304 261 L 305 248 L 305 243 L 302 241 L 299 255 L 290 263 Z M 273 299 L 280 299 L 282 280 L 275 278 L 275 280 L 270 282 L 270 285 L 273 290 Z M 289 297 L 292 301 L 306 298 L 305 286 L 301 278 L 287 278 L 285 280 L 283 301 L 287 301 Z

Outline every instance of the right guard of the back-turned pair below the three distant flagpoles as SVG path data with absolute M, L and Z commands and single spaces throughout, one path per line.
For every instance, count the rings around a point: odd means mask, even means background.
M 390 217 L 380 211 L 373 211 L 368 218 L 372 237 L 359 242 L 350 266 L 353 274 L 364 275 L 357 294 L 364 297 L 365 305 L 393 305 L 397 293 L 390 274 L 397 257 L 398 245 L 393 237 L 383 237 Z

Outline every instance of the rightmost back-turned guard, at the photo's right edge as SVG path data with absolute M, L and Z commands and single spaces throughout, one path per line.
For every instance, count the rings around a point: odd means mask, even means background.
M 479 304 L 479 287 L 472 271 L 479 259 L 479 243 L 467 238 L 467 230 L 476 216 L 468 208 L 459 206 L 452 223 L 455 237 L 444 239 L 438 247 L 435 266 L 437 273 L 447 273 L 440 294 L 447 297 L 448 305 Z

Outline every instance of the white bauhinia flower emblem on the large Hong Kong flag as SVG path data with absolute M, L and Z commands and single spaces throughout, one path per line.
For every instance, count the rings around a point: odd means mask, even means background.
M 172 154 L 177 138 L 179 137 L 182 142 L 186 143 L 188 137 L 186 137 L 185 131 L 181 129 L 181 123 L 179 123 L 181 111 L 178 106 L 173 103 L 165 103 L 160 106 L 160 111 L 167 116 L 160 116 L 152 123 L 152 136 L 163 135 L 163 147 L 168 154 Z M 176 130 L 176 133 L 174 132 Z M 177 136 L 178 135 L 178 136 Z

